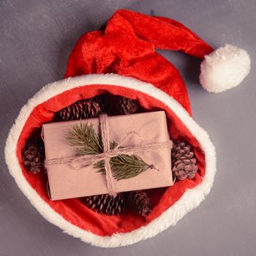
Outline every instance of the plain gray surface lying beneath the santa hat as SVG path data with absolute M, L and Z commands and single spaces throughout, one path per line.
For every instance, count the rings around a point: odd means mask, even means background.
M 118 8 L 181 20 L 214 47 L 230 42 L 246 48 L 254 67 L 255 0 L 1 0 L 0 255 L 255 255 L 254 70 L 237 89 L 208 94 L 198 86 L 200 61 L 162 51 L 185 78 L 194 118 L 208 130 L 218 158 L 207 199 L 155 238 L 118 249 L 85 244 L 43 219 L 9 175 L 4 144 L 20 108 L 46 83 L 62 78 L 78 37 L 99 29 Z

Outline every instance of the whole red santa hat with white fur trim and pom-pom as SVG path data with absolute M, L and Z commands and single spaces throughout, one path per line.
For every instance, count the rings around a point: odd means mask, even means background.
M 214 146 L 191 117 L 181 75 L 156 48 L 182 50 L 203 59 L 200 83 L 211 92 L 237 86 L 249 73 L 250 59 L 245 50 L 231 45 L 214 50 L 175 20 L 118 10 L 105 31 L 92 31 L 78 40 L 69 57 L 66 79 L 50 83 L 29 99 L 7 139 L 5 155 L 10 173 L 39 213 L 65 233 L 97 246 L 133 244 L 176 225 L 200 204 L 214 181 Z M 195 178 L 154 189 L 154 208 L 146 219 L 129 213 L 100 215 L 76 198 L 51 201 L 42 176 L 26 172 L 22 164 L 22 148 L 42 124 L 52 121 L 61 108 L 105 91 L 138 99 L 147 110 L 165 110 L 170 137 L 187 140 L 195 151 Z

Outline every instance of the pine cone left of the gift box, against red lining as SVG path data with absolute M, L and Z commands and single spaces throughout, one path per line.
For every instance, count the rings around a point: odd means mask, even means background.
M 42 141 L 31 140 L 23 149 L 23 165 L 30 173 L 39 173 L 45 169 L 45 152 Z

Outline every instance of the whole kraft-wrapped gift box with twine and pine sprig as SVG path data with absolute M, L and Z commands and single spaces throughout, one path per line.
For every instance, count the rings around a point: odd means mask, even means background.
M 43 124 L 42 138 L 51 200 L 173 184 L 164 111 Z

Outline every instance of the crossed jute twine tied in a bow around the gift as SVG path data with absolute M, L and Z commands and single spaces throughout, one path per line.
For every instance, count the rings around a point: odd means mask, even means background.
M 117 144 L 117 146 L 113 149 L 110 149 L 110 138 L 109 138 L 109 129 L 108 129 L 108 118 L 107 115 L 99 116 L 99 127 L 100 127 L 100 134 L 102 138 L 103 144 L 103 152 L 100 154 L 91 154 L 91 155 L 83 155 L 78 157 L 62 157 L 62 158 L 55 158 L 55 159 L 48 159 L 45 161 L 46 165 L 54 165 L 54 164 L 63 164 L 69 163 L 70 166 L 74 169 L 80 169 L 82 167 L 86 167 L 89 165 L 94 165 L 96 162 L 104 160 L 105 162 L 105 173 L 106 173 L 106 181 L 107 181 L 107 188 L 108 194 L 112 196 L 116 196 L 116 188 L 114 187 L 113 182 L 113 174 L 110 167 L 110 159 L 112 157 L 117 157 L 120 154 L 136 154 L 138 152 L 146 152 L 146 151 L 155 151 L 161 150 L 164 148 L 170 148 L 171 142 L 170 140 L 162 143 L 151 143 L 151 144 L 144 144 L 140 146 L 121 146 L 124 143 L 124 140 L 128 138 L 129 135 L 135 134 L 138 135 L 137 132 L 129 132 L 124 138 Z M 141 138 L 140 135 L 138 135 Z M 151 169 L 157 169 L 154 165 L 149 165 Z

